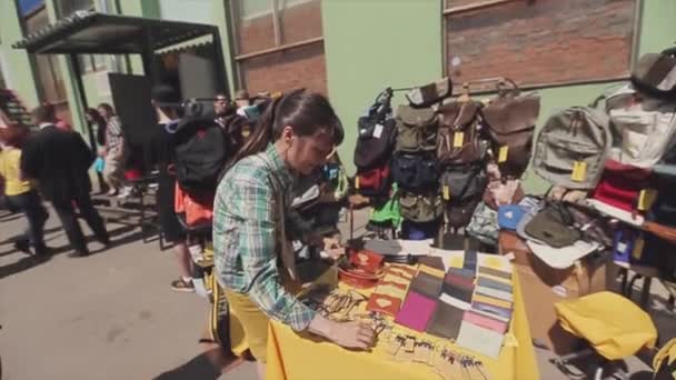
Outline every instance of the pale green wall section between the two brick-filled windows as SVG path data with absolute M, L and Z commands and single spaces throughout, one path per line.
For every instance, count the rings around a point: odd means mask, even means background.
M 441 77 L 441 0 L 321 4 L 328 92 L 346 132 L 340 156 L 352 173 L 357 118 L 378 92 Z

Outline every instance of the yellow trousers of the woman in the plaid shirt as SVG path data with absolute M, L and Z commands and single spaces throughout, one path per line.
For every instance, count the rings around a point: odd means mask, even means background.
M 239 322 L 245 330 L 251 354 L 257 361 L 265 363 L 268 350 L 268 317 L 249 299 L 249 296 L 227 288 L 223 291 L 230 310 L 237 316 L 237 320 L 230 318 L 230 331 L 235 328 L 232 324 Z

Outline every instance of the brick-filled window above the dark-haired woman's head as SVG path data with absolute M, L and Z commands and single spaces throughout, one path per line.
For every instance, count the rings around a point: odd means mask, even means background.
M 321 4 L 310 1 L 279 12 L 281 43 L 289 44 L 321 37 Z M 238 54 L 275 47 L 270 14 L 240 21 Z M 249 92 L 285 91 L 296 88 L 327 93 L 322 43 L 294 48 L 240 61 L 245 87 Z

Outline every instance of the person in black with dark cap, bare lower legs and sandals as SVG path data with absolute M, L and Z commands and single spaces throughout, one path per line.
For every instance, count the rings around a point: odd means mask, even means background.
M 186 242 L 186 233 L 178 221 L 173 210 L 176 197 L 176 174 L 172 172 L 173 160 L 170 146 L 172 131 L 176 130 L 183 109 L 178 91 L 167 84 L 152 88 L 152 106 L 157 112 L 158 126 L 152 136 L 150 153 L 153 156 L 148 162 L 157 162 L 159 169 L 157 204 L 159 220 L 165 239 L 173 243 L 173 252 L 178 261 L 180 277 L 171 282 L 175 291 L 193 292 L 192 259 Z

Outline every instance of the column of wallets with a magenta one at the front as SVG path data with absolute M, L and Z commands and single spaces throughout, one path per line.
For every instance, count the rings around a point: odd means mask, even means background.
M 425 331 L 437 309 L 444 286 L 444 271 L 420 264 L 395 322 L 411 330 Z

